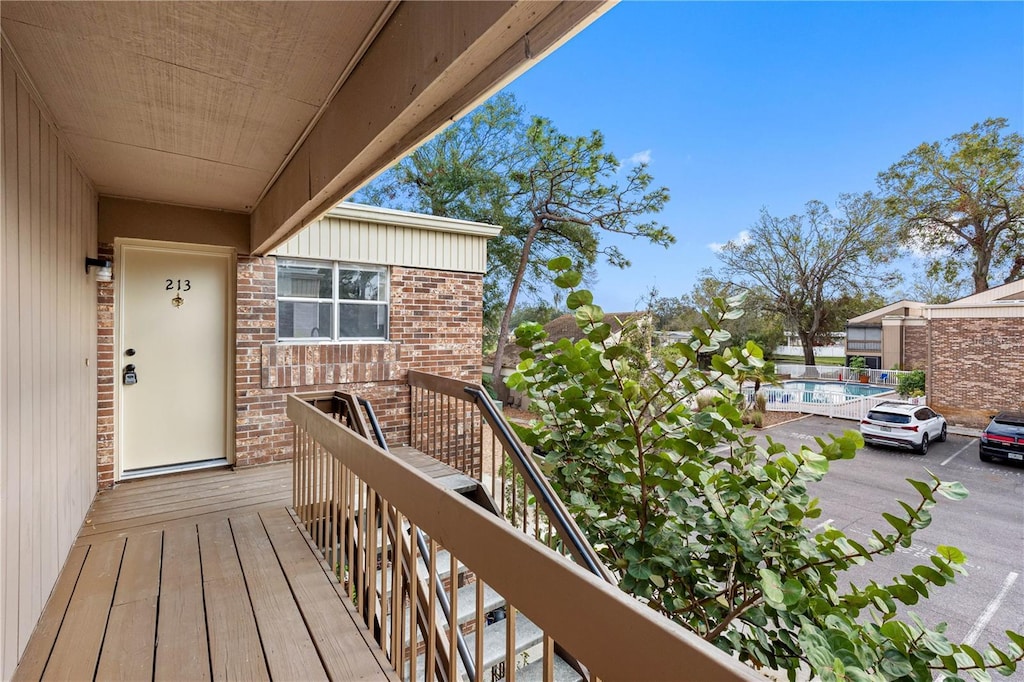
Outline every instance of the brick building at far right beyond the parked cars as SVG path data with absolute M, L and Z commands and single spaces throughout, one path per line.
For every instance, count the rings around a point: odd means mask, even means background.
M 848 340 L 847 355 L 924 370 L 929 404 L 953 424 L 1024 410 L 1024 280 L 943 305 L 901 301 L 850 319 L 851 329 L 879 343 L 865 352 Z

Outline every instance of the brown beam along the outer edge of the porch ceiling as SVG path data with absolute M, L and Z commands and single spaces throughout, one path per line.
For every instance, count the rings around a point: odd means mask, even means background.
M 598 2 L 402 2 L 254 209 L 264 254 L 606 11 Z

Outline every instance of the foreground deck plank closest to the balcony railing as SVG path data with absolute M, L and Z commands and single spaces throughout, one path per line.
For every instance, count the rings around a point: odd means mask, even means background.
M 393 671 L 381 665 L 367 643 L 369 632 L 332 585 L 337 581 L 333 576 L 325 580 L 324 566 L 313 557 L 291 515 L 282 509 L 263 512 L 260 517 L 331 679 L 391 677 Z

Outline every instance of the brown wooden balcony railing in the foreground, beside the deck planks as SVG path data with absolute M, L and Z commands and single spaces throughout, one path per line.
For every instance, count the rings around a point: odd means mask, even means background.
M 759 679 L 537 542 L 534 532 L 513 527 L 390 456 L 346 426 L 347 420 L 294 395 L 288 398 L 288 416 L 295 424 L 296 509 L 321 536 L 322 547 L 331 548 L 329 560 L 401 679 L 460 679 L 464 669 L 449 652 L 456 649 L 456 631 L 483 631 L 488 592 L 504 598 L 505 660 L 516 660 L 520 622 L 543 632 L 546 681 L 555 679 L 556 643 L 591 680 Z M 459 435 L 459 427 L 452 433 Z M 428 556 L 407 540 L 418 530 L 428 539 Z M 462 567 L 471 578 L 454 578 Z M 416 570 L 429 577 L 426 589 L 411 578 Z M 475 602 L 469 622 L 445 631 L 437 616 L 438 593 L 446 594 L 457 614 L 464 610 L 460 595 L 463 602 Z M 483 637 L 476 637 L 470 647 L 476 662 L 484 657 L 483 645 Z M 490 670 L 513 682 L 517 674 L 515 665 L 503 666 L 500 674 Z M 477 665 L 471 678 L 482 681 L 484 673 Z

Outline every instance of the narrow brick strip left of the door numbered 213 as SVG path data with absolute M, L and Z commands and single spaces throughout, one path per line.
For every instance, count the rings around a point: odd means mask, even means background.
M 114 260 L 114 246 L 100 244 L 99 258 Z M 114 283 L 96 283 L 96 485 L 114 485 Z

